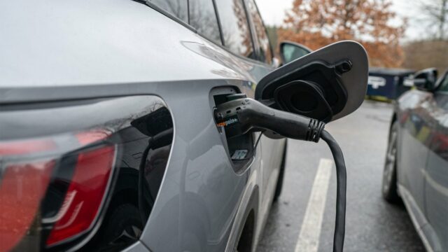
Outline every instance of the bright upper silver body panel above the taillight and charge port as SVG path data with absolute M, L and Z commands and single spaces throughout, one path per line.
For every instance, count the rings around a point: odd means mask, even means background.
M 113 89 L 137 83 L 157 88 L 167 81 L 205 79 L 255 83 L 269 72 L 262 62 L 241 60 L 135 1 L 47 0 L 26 8 L 28 4 L 8 1 L 0 10 L 2 102 L 69 99 L 82 94 L 65 91 L 82 86 Z M 98 9 L 107 15 L 96 18 Z M 14 18 L 18 12 L 29 18 Z M 164 29 L 158 28 L 161 24 Z M 55 92 L 38 92 L 33 87 Z M 72 89 L 61 93 L 57 87 Z

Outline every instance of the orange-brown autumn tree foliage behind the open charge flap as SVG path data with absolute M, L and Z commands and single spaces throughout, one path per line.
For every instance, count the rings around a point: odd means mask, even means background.
M 294 0 L 286 12 L 279 41 L 295 41 L 316 50 L 330 43 L 354 40 L 366 48 L 370 65 L 402 64 L 400 46 L 405 27 L 393 27 L 390 0 Z

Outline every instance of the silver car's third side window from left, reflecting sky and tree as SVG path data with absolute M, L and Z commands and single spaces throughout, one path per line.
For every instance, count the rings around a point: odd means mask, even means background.
M 251 31 L 242 0 L 216 0 L 226 48 L 237 55 L 255 59 Z

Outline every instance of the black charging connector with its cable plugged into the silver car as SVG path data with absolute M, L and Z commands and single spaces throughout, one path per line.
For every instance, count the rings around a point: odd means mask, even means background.
M 228 102 L 214 111 L 216 125 L 225 128 L 227 137 L 248 132 L 272 131 L 290 139 L 318 142 L 323 139 L 333 155 L 337 173 L 336 223 L 333 252 L 344 250 L 346 169 L 344 156 L 335 139 L 323 130 L 325 123 L 295 113 L 272 109 L 244 94 L 231 94 Z

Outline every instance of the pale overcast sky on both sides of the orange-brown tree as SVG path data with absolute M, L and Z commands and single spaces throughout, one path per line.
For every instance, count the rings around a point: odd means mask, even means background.
M 281 25 L 285 10 L 293 6 L 293 0 L 255 0 L 266 25 Z M 415 0 L 392 0 L 394 10 L 399 17 L 407 17 L 409 20 L 406 31 L 406 39 L 413 40 L 421 37 L 421 33 L 427 28 L 421 22 L 412 17 L 418 15 Z M 394 25 L 400 25 L 400 20 L 393 20 Z

